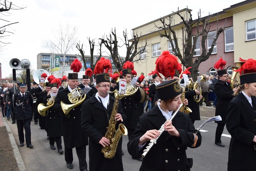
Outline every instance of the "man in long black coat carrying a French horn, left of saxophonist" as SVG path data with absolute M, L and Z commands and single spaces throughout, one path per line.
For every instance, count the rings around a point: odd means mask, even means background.
M 86 146 L 88 145 L 88 136 L 83 132 L 81 127 L 81 108 L 82 103 L 72 107 L 72 109 L 67 114 L 67 117 L 61 107 L 61 101 L 65 104 L 73 104 L 68 98 L 68 94 L 77 88 L 78 84 L 78 74 L 69 73 L 68 75 L 68 86 L 58 92 L 53 109 L 56 112 L 62 112 L 62 130 L 63 130 L 63 140 L 65 145 L 65 161 L 67 162 L 67 167 L 69 169 L 73 168 L 73 152 L 72 149 L 76 148 L 77 157 L 79 159 L 79 169 L 87 170 L 86 162 Z M 82 102 L 82 101 L 81 101 Z

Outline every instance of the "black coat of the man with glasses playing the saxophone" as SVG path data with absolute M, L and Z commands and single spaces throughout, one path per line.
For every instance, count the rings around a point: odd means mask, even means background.
M 121 141 L 120 139 L 116 154 L 112 159 L 107 159 L 101 153 L 102 145 L 99 144 L 99 141 L 102 137 L 105 137 L 107 132 L 107 127 L 109 125 L 107 120 L 107 114 L 111 117 L 114 98 L 109 96 L 109 105 L 108 113 L 106 113 L 104 106 L 100 103 L 95 94 L 88 100 L 83 103 L 82 106 L 82 129 L 85 134 L 89 137 L 89 158 L 90 158 L 90 170 L 95 171 L 122 171 L 122 152 L 121 152 Z M 126 116 L 122 111 L 121 103 L 118 102 L 117 113 L 120 113 L 123 119 L 123 122 L 118 121 L 115 125 L 115 129 L 118 128 L 120 123 L 125 123 Z

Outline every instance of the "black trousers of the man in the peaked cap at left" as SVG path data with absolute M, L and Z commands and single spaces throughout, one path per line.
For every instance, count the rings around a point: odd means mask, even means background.
M 19 142 L 24 143 L 24 133 L 23 133 L 23 127 L 24 127 L 27 146 L 31 144 L 30 120 L 31 118 L 24 119 L 24 120 L 16 120 L 18 135 L 19 135 Z

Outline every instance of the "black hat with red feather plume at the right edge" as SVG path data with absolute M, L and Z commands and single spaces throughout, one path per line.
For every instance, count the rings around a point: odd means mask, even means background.
M 245 62 L 240 69 L 235 70 L 240 73 L 240 84 L 249 84 L 256 82 L 256 60 L 248 59 L 244 60 L 239 58 L 239 61 Z

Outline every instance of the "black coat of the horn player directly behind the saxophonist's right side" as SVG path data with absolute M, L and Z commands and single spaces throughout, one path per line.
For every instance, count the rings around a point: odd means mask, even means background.
M 114 90 L 115 89 L 119 90 L 119 85 L 116 85 L 114 87 Z M 137 117 L 141 113 L 141 108 L 139 109 L 140 113 L 138 114 L 138 105 L 140 105 L 140 104 L 136 103 L 136 102 L 139 102 L 141 100 L 141 98 L 142 98 L 141 91 L 138 88 L 136 93 L 134 93 L 133 95 L 130 95 L 130 96 L 123 97 L 120 100 L 122 103 L 123 113 L 127 117 L 127 121 L 125 122 L 124 125 L 129 129 L 135 129 L 135 127 L 138 123 Z

